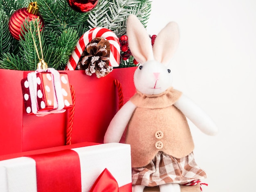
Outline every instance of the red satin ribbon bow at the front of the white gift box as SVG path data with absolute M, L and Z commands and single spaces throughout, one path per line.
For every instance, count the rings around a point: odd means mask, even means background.
M 107 168 L 99 175 L 90 192 L 119 192 L 117 181 Z

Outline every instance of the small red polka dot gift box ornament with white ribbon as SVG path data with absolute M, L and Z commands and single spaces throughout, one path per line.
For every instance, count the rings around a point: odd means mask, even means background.
M 51 68 L 37 70 L 21 80 L 21 88 L 27 114 L 44 116 L 72 107 L 67 73 Z

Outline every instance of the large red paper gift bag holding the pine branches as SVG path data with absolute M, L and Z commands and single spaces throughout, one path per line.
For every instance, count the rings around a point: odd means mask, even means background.
M 135 69 L 117 68 L 103 78 L 65 71 L 76 96 L 71 143 L 103 143 L 119 105 L 114 80 L 122 85 L 125 103 L 135 93 Z M 0 69 L 0 155 L 65 145 L 68 110 L 43 117 L 25 112 L 20 80 L 29 72 Z

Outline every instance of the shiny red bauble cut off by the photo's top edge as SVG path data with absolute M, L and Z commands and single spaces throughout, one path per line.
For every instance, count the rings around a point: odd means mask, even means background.
M 96 7 L 99 0 L 67 0 L 68 5 L 77 12 L 85 13 Z

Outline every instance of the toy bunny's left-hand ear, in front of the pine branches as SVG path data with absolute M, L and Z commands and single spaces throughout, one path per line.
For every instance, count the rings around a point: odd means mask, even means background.
M 146 29 L 135 15 L 128 16 L 126 31 L 132 56 L 141 64 L 147 60 L 153 60 L 150 38 Z

